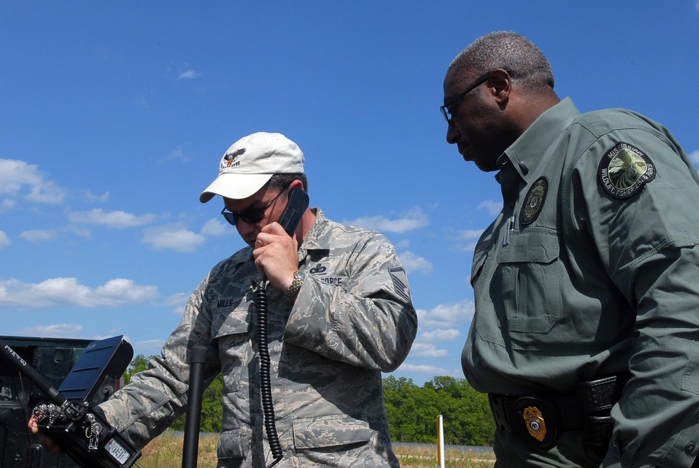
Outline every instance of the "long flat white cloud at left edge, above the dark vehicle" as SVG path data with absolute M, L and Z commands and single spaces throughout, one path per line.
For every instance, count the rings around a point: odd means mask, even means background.
M 14 279 L 0 281 L 0 305 L 31 308 L 56 305 L 80 307 L 117 307 L 140 304 L 158 297 L 155 286 L 139 286 L 132 280 L 117 278 L 97 288 L 80 284 L 76 278 L 52 278 L 27 284 Z

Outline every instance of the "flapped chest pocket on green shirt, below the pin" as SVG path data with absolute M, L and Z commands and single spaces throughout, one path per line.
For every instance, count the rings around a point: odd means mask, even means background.
M 507 248 L 498 252 L 497 262 L 491 292 L 501 292 L 498 302 L 505 311 L 506 323 L 500 320 L 500 327 L 506 326 L 510 332 L 549 332 L 559 320 L 561 309 L 556 233 L 513 233 Z

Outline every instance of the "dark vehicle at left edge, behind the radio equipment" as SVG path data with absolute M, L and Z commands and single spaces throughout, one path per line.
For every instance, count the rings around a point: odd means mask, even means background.
M 93 340 L 0 336 L 0 339 L 41 374 L 53 388 L 69 374 Z M 107 377 L 92 398 L 92 405 L 105 401 L 123 384 Z M 27 430 L 34 407 L 48 401 L 10 362 L 0 357 L 0 468 L 78 468 L 67 456 L 57 456 L 38 443 Z

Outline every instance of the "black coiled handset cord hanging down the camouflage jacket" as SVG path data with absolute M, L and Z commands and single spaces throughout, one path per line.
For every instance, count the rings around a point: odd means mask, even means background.
M 269 448 L 274 457 L 274 462 L 268 465 L 271 468 L 282 460 L 282 445 L 279 442 L 277 426 L 274 420 L 274 405 L 272 401 L 272 383 L 270 378 L 270 357 L 267 337 L 267 291 L 266 280 L 260 283 L 255 292 L 257 303 L 257 347 L 260 356 L 260 394 L 262 399 L 262 413 L 264 413 L 264 428 L 267 432 Z

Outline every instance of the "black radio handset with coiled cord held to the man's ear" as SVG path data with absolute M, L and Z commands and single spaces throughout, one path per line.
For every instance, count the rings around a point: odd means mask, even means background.
M 294 236 L 298 222 L 301 221 L 303 213 L 308 208 L 308 194 L 299 188 L 289 192 L 287 207 L 284 208 L 279 218 L 279 224 L 289 236 Z M 277 427 L 274 421 L 274 406 L 272 402 L 272 384 L 270 378 L 270 357 L 267 338 L 267 280 L 262 279 L 262 283 L 255 292 L 255 302 L 257 303 L 257 347 L 260 356 L 260 395 L 262 400 L 262 413 L 264 413 L 264 428 L 269 441 L 269 448 L 274 461 L 268 468 L 276 465 L 282 460 L 282 445 L 279 443 Z

